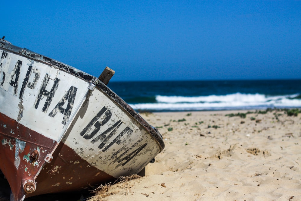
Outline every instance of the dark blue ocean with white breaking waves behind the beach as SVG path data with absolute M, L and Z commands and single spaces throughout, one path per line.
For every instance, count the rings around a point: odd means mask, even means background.
M 108 86 L 136 111 L 301 108 L 301 80 L 111 81 Z

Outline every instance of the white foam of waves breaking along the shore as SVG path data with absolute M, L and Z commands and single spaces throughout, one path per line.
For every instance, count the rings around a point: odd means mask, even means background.
M 301 99 L 287 96 L 265 96 L 263 94 L 228 94 L 222 96 L 156 96 L 157 103 L 131 104 L 136 110 L 181 111 L 181 110 L 222 110 L 261 109 L 273 107 L 301 107 Z

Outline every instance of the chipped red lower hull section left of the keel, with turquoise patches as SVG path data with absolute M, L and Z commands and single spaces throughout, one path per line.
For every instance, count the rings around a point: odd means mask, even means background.
M 34 181 L 40 171 L 37 165 L 30 162 L 30 154 L 37 147 L 40 150 L 51 150 L 55 143 L 1 113 L 0 122 L 5 125 L 0 127 L 0 141 L 2 142 L 2 146 L 0 146 L 0 169 L 7 178 L 11 191 L 15 192 L 13 196 L 20 197 L 24 195 L 24 190 L 20 186 L 26 185 L 26 180 Z M 25 142 L 25 145 L 24 143 L 23 145 L 18 144 L 21 141 Z M 39 158 L 44 159 L 47 154 L 48 151 L 41 151 Z M 24 160 L 16 161 L 17 156 Z M 19 168 L 24 171 L 20 171 Z

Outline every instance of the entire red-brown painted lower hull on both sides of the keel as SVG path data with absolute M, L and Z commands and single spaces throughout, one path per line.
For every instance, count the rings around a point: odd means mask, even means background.
M 18 147 L 16 146 L 15 139 L 25 140 L 27 142 L 23 151 L 19 153 L 20 158 L 24 158 L 29 153 L 32 153 L 37 146 L 40 147 L 40 149 L 51 150 L 53 147 L 49 147 L 48 144 L 51 144 L 53 140 L 23 127 L 18 124 L 17 121 L 1 113 L 0 121 L 6 125 L 5 129 L 0 127 L 0 141 L 10 142 L 7 143 L 6 146 L 0 146 L 0 157 L 2 161 L 2 163 L 0 163 L 0 169 L 7 178 L 12 192 L 20 191 L 19 194 L 24 194 L 23 190 L 19 190 L 24 179 L 35 179 L 37 183 L 36 190 L 33 193 L 27 194 L 26 197 L 45 193 L 88 190 L 97 184 L 116 179 L 90 165 L 77 155 L 73 149 L 62 142 L 55 149 L 51 163 L 46 163 L 36 178 L 34 177 L 34 173 L 37 173 L 38 169 L 35 168 L 30 161 L 27 163 L 26 160 L 20 160 L 19 166 L 26 166 L 27 171 L 29 171 L 31 175 L 26 175 L 25 171 L 18 171 L 14 165 L 14 153 L 16 153 L 15 149 Z M 28 138 L 28 133 L 30 133 L 32 139 Z M 41 152 L 39 157 L 43 159 L 46 155 L 46 153 Z M 32 169 L 29 170 L 29 168 Z M 15 196 L 17 197 L 18 195 Z

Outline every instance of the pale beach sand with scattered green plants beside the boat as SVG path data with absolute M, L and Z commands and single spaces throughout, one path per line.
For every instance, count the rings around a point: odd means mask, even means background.
M 301 114 L 284 111 L 141 113 L 165 149 L 145 176 L 96 200 L 301 200 Z

